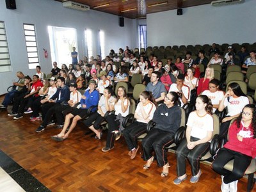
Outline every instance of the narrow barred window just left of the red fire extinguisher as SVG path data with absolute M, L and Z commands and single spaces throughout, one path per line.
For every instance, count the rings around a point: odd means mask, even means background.
M 23 28 L 28 52 L 28 68 L 33 69 L 39 65 L 35 25 L 23 24 Z

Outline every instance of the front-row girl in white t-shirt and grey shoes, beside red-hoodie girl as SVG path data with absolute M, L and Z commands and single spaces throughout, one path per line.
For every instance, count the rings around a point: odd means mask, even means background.
M 180 184 L 187 178 L 186 158 L 191 164 L 191 183 L 198 182 L 201 170 L 199 159 L 204 156 L 210 147 L 213 132 L 213 118 L 211 116 L 212 104 L 206 95 L 196 98 L 196 111 L 189 114 L 186 138 L 181 141 L 176 151 L 177 178 L 174 184 Z

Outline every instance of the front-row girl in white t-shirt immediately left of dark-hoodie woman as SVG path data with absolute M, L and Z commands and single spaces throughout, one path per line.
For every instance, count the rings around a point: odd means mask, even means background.
M 156 101 L 151 92 L 144 91 L 140 93 L 140 102 L 134 114 L 136 122 L 124 129 L 124 138 L 128 145 L 131 159 L 134 159 L 139 149 L 137 138 L 147 132 L 147 124 L 152 120 L 156 106 Z

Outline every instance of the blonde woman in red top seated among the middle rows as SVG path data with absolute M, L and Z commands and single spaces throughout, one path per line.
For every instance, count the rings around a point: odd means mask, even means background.
M 205 90 L 208 90 L 209 82 L 214 79 L 214 68 L 213 67 L 207 67 L 205 69 L 205 75 L 204 78 L 201 78 L 198 83 L 197 87 L 197 95 L 200 95 Z

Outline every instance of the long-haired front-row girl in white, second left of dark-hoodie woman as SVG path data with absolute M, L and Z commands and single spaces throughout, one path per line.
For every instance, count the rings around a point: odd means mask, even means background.
M 106 116 L 106 120 L 108 122 L 108 136 L 106 147 L 102 148 L 102 152 L 108 152 L 109 150 L 114 148 L 115 132 L 118 131 L 118 128 L 120 126 L 120 120 L 117 120 L 116 117 L 118 116 L 119 118 L 121 118 L 122 116 L 124 118 L 125 116 L 127 116 L 129 114 L 129 106 L 130 101 L 129 97 L 127 97 L 127 92 L 124 86 L 120 86 L 117 90 L 117 99 L 113 106 L 115 114 Z

